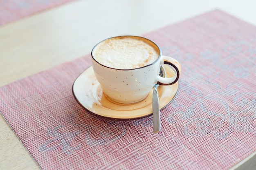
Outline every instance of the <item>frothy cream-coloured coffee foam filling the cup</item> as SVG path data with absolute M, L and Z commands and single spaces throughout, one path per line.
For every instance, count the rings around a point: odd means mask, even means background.
M 160 55 L 158 46 L 136 36 L 121 36 L 104 40 L 92 51 L 94 60 L 117 69 L 140 68 L 151 64 Z

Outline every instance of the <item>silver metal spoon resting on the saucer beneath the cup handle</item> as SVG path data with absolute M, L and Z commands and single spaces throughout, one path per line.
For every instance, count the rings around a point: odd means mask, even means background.
M 159 75 L 161 77 L 165 77 L 165 70 L 161 66 Z M 157 93 L 157 87 L 159 85 L 155 84 L 153 89 L 153 101 L 152 101 L 152 108 L 153 108 L 153 130 L 154 133 L 158 133 L 161 130 L 161 120 L 160 120 L 160 108 L 159 108 L 159 97 Z

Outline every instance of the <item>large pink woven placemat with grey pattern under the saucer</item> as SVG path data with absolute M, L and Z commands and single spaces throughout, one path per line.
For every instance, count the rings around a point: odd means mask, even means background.
M 256 27 L 211 11 L 144 35 L 182 65 L 180 92 L 152 117 L 91 115 L 72 84 L 90 56 L 0 88 L 0 111 L 50 169 L 226 170 L 256 151 Z

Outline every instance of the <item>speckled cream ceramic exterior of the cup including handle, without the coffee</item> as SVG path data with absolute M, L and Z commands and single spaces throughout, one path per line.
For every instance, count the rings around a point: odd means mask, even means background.
M 120 37 L 136 38 L 137 36 L 128 35 L 114 38 Z M 146 38 L 143 39 L 148 40 Z M 104 95 L 107 95 L 107 97 L 111 100 L 121 104 L 132 104 L 143 100 L 155 84 L 171 85 L 177 82 L 181 71 L 179 62 L 172 57 L 163 56 L 159 46 L 154 42 L 153 44 L 155 47 L 157 47 L 157 49 L 159 49 L 159 57 L 157 60 L 146 66 L 132 69 L 111 68 L 99 63 L 93 56 L 94 49 L 97 47 L 97 45 L 94 46 L 91 53 L 92 67 L 97 80 L 101 84 Z M 162 64 L 171 65 L 176 71 L 176 75 L 168 78 L 159 76 L 159 71 Z

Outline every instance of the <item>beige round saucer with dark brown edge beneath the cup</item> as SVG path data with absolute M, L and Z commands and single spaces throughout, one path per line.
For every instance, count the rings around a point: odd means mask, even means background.
M 164 66 L 166 77 L 175 75 L 173 69 Z M 166 108 L 175 99 L 179 89 L 178 82 L 169 86 L 158 86 L 160 110 Z M 94 76 L 92 66 L 81 73 L 72 87 L 76 101 L 92 114 L 110 119 L 131 120 L 152 115 L 153 89 L 148 96 L 134 104 L 121 104 L 106 96 Z

